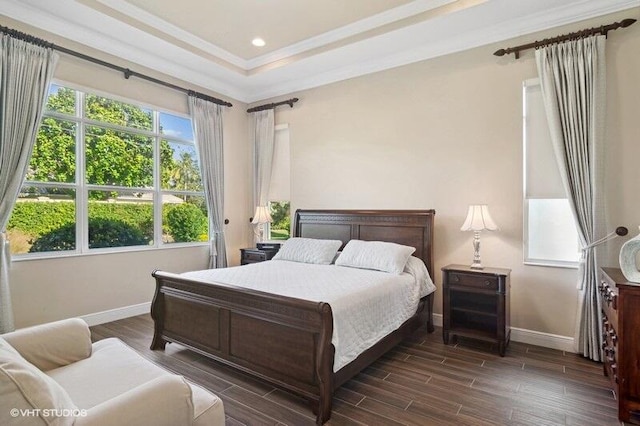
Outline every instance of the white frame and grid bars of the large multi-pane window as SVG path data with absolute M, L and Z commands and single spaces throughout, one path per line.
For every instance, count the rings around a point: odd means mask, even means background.
M 76 257 L 87 255 L 99 255 L 121 252 L 136 252 L 136 251 L 148 251 L 148 250 L 164 250 L 173 248 L 184 247 L 197 247 L 208 246 L 210 240 L 210 229 L 207 229 L 207 241 L 192 241 L 192 242 L 163 242 L 162 234 L 162 211 L 163 211 L 163 195 L 186 195 L 196 197 L 206 197 L 204 189 L 202 191 L 184 191 L 184 190 L 170 190 L 162 188 L 162 168 L 160 163 L 160 144 L 161 140 L 167 140 L 168 142 L 176 142 L 180 144 L 193 145 L 197 155 L 198 149 L 194 140 L 190 141 L 184 138 L 180 138 L 174 135 L 167 135 L 160 133 L 160 114 L 170 114 L 176 117 L 186 118 L 191 120 L 188 114 L 171 111 L 166 108 L 161 108 L 155 105 L 146 104 L 133 99 L 124 98 L 122 96 L 109 94 L 100 90 L 83 87 L 77 84 L 73 84 L 64 80 L 53 79 L 50 83 L 51 86 L 60 86 L 75 91 L 75 112 L 73 115 L 61 113 L 58 111 L 44 110 L 41 118 L 42 121 L 45 118 L 54 118 L 57 120 L 64 120 L 72 122 L 76 126 L 75 134 L 75 182 L 41 182 L 41 181 L 27 181 L 26 176 L 22 180 L 21 188 L 25 186 L 33 186 L 36 188 L 69 188 L 76 192 L 75 197 L 75 231 L 76 231 L 76 244 L 75 250 L 62 250 L 62 251 L 47 251 L 47 252 L 35 252 L 35 253 L 12 253 L 12 259 L 16 261 L 20 260 L 33 260 L 42 258 L 59 258 L 59 257 Z M 114 123 L 102 122 L 85 117 L 85 102 L 87 95 L 95 95 L 99 97 L 108 98 L 116 102 L 126 103 L 141 109 L 151 110 L 153 114 L 153 129 L 145 130 L 133 127 L 121 126 Z M 137 135 L 147 136 L 152 139 L 153 144 L 153 187 L 152 188 L 140 188 L 140 187 L 126 187 L 116 185 L 96 185 L 87 183 L 86 179 L 86 157 L 85 157 L 85 130 L 88 126 L 97 126 L 109 130 L 121 131 L 126 133 L 133 133 Z M 38 128 L 39 129 L 39 128 Z M 200 159 L 197 158 L 198 164 Z M 104 247 L 104 248 L 89 248 L 89 192 L 90 191 L 142 191 L 153 194 L 153 244 L 149 245 L 134 245 L 134 246 L 120 246 L 120 247 Z M 207 212 L 208 215 L 208 212 Z M 209 221 L 207 220 L 207 223 Z

